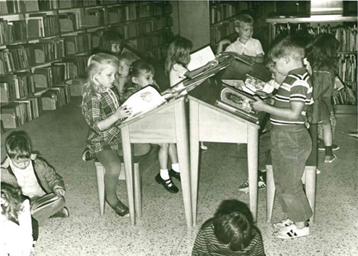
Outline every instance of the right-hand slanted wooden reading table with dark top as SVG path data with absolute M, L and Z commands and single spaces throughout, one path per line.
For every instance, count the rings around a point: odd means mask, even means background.
M 248 72 L 250 71 L 250 72 Z M 268 81 L 270 72 L 262 65 L 249 67 L 233 63 L 214 78 L 189 93 L 189 138 L 191 169 L 191 207 L 193 224 L 196 223 L 196 208 L 199 185 L 199 141 L 219 143 L 246 143 L 248 153 L 248 182 L 250 209 L 254 220 L 257 217 L 258 200 L 258 131 L 259 123 L 252 123 L 234 113 L 214 106 L 221 88 L 221 78 L 244 79 L 245 72 L 260 72 L 260 78 Z

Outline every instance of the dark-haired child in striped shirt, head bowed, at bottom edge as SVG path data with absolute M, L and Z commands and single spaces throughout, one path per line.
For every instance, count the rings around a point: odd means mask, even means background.
M 223 200 L 214 217 L 201 226 L 191 255 L 265 256 L 248 206 L 238 200 Z

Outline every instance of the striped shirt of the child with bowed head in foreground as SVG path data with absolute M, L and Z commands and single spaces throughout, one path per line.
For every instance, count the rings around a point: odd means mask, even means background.
M 265 256 L 260 231 L 253 228 L 253 239 L 243 251 L 232 251 L 220 242 L 214 234 L 214 218 L 207 220 L 199 230 L 194 242 L 192 256 Z

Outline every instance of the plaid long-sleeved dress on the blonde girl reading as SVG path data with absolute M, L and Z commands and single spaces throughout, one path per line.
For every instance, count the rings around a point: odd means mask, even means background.
M 94 95 L 85 98 L 82 113 L 86 123 L 90 126 L 87 147 L 92 156 L 102 150 L 118 150 L 121 147 L 122 137 L 118 122 L 105 130 L 98 128 L 98 123 L 115 113 L 119 106 L 119 98 L 110 88 L 101 93 L 100 100 Z

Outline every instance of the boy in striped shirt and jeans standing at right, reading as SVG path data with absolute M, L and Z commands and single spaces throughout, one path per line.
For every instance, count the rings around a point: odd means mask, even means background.
M 302 188 L 301 178 L 312 150 L 310 134 L 305 126 L 306 111 L 312 104 L 310 75 L 303 65 L 305 49 L 293 37 L 275 43 L 269 51 L 275 68 L 286 76 L 273 106 L 256 97 L 251 103 L 256 111 L 270 113 L 271 158 L 275 188 L 288 219 L 275 223 L 273 235 L 283 239 L 310 234 L 307 220 L 312 210 Z

